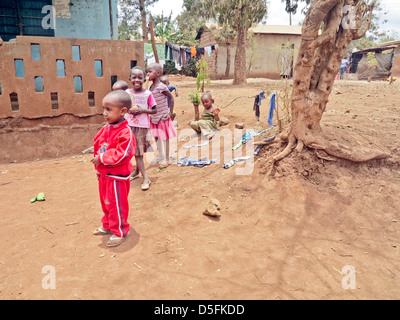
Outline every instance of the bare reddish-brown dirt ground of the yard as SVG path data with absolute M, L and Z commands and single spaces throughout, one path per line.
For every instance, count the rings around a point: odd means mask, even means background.
M 177 150 L 198 159 L 200 148 L 182 148 L 195 81 L 171 83 L 179 89 Z M 212 81 L 207 90 L 229 119 L 221 129 L 268 128 L 269 97 L 259 123 L 252 97 L 282 85 Z M 399 96 L 398 81 L 337 81 L 322 120 L 346 143 L 389 151 L 386 160 L 328 161 L 304 150 L 278 163 L 270 179 L 267 159 L 284 145 L 264 147 L 248 172 L 252 160 L 222 168 L 224 145 L 232 147 L 222 139 L 218 163 L 203 168 L 147 163 L 151 188 L 131 183 L 131 235 L 116 248 L 92 235 L 102 214 L 91 154 L 0 164 L 0 298 L 399 299 Z M 31 203 L 39 192 L 46 200 Z M 211 198 L 220 202 L 219 218 L 203 214 Z

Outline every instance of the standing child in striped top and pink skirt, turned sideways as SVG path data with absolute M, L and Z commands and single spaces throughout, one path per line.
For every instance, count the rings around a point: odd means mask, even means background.
M 157 102 L 157 113 L 151 117 L 151 133 L 157 142 L 158 159 L 156 160 L 164 167 L 169 164 L 169 139 L 176 137 L 176 131 L 171 120 L 174 113 L 174 96 L 160 81 L 162 71 L 162 66 L 158 63 L 152 63 L 147 67 L 149 80 L 153 82 L 149 90 Z M 169 108 L 168 100 L 170 101 Z

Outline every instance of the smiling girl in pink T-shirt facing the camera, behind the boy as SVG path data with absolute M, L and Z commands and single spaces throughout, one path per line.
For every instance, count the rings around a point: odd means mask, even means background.
M 131 69 L 129 80 L 133 88 L 126 90 L 132 99 L 132 107 L 128 111 L 127 120 L 136 139 L 136 168 L 131 174 L 131 180 L 142 174 L 142 190 L 150 188 L 151 181 L 147 176 L 143 156 L 150 149 L 152 136 L 150 131 L 150 114 L 157 112 L 156 101 L 152 93 L 143 88 L 146 72 L 140 67 Z

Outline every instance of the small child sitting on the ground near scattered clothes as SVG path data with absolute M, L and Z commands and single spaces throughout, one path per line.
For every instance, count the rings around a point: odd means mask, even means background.
M 208 139 L 212 139 L 215 132 L 219 129 L 218 121 L 220 110 L 213 106 L 214 99 L 209 92 L 206 92 L 201 96 L 201 104 L 204 107 L 201 119 L 191 121 L 189 125 L 196 132 L 203 134 Z

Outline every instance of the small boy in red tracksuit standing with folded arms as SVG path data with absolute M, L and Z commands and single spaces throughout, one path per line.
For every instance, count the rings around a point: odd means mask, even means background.
M 132 105 L 131 97 L 123 90 L 111 91 L 103 99 L 103 116 L 107 124 L 94 138 L 94 158 L 99 194 L 104 216 L 102 226 L 93 234 L 112 234 L 108 247 L 121 244 L 129 234 L 128 194 L 129 176 L 133 171 L 131 159 L 136 142 L 124 116 Z

